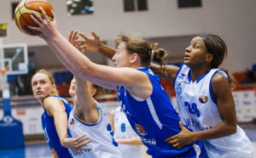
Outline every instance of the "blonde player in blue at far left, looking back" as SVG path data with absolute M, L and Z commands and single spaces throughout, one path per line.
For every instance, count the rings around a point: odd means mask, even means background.
M 44 108 L 44 114 L 41 117 L 44 136 L 54 157 L 72 157 L 67 148 L 61 145 L 67 138 L 67 119 L 72 110 L 71 105 L 67 100 L 57 96 L 54 79 L 45 70 L 40 70 L 32 76 L 32 92 Z M 88 138 L 80 136 L 79 138 L 68 138 L 66 141 L 83 146 L 89 143 L 85 141 L 86 139 Z M 81 148 L 80 150 L 87 149 Z

